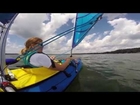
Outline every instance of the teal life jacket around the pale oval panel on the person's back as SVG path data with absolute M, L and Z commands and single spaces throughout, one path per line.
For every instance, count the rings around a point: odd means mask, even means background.
M 37 52 L 29 52 L 27 55 L 25 55 L 25 57 L 23 58 L 23 63 L 26 67 L 31 67 L 31 68 L 39 68 L 40 66 L 34 66 L 30 63 L 30 58 L 32 55 L 36 54 Z M 41 52 L 42 54 L 45 54 L 43 52 Z M 48 56 L 47 54 L 45 54 L 46 56 Z M 49 57 L 49 56 L 48 56 Z M 50 57 L 49 57 L 50 58 Z M 52 67 L 55 68 L 55 63 L 54 61 L 50 58 L 51 63 L 52 63 Z

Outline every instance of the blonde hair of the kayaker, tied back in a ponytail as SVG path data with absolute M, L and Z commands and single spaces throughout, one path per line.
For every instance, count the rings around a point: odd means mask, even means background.
M 31 37 L 25 42 L 25 48 L 21 50 L 21 54 L 26 53 L 26 51 L 30 50 L 32 46 L 35 46 L 36 44 L 39 44 L 42 42 L 41 38 L 38 37 Z

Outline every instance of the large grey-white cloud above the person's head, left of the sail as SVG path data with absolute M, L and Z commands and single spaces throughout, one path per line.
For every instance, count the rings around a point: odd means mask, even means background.
M 11 27 L 10 33 L 24 38 L 38 36 L 43 39 L 55 35 L 56 31 L 65 25 L 75 14 L 19 14 Z M 50 19 L 51 18 L 51 19 Z M 47 24 L 43 22 L 47 21 Z

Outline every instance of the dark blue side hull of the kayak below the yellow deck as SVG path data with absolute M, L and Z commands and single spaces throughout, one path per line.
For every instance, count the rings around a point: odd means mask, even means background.
M 64 72 L 59 72 L 46 80 L 23 88 L 19 92 L 63 92 L 81 71 L 82 65 L 81 59 L 77 59 L 76 66 L 75 62 L 72 62 Z

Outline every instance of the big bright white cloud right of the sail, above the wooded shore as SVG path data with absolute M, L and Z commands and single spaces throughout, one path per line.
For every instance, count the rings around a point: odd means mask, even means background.
M 83 48 L 83 52 L 104 52 L 112 51 L 122 48 L 140 47 L 140 23 L 136 23 L 134 20 L 128 20 L 126 18 L 114 19 L 108 21 L 108 23 L 114 28 L 111 31 L 105 31 L 107 34 L 103 38 L 96 38 L 93 42 L 83 40 L 77 47 Z M 89 38 L 87 36 L 86 38 Z M 84 48 L 86 46 L 86 48 Z M 88 48 L 88 51 L 87 51 Z

